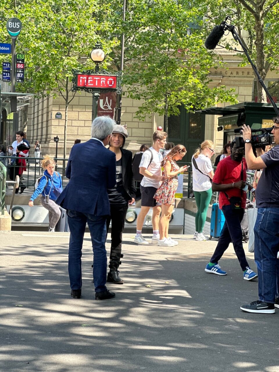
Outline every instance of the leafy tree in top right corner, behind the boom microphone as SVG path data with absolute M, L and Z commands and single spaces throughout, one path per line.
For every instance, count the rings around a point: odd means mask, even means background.
M 251 60 L 264 80 L 269 70 L 274 70 L 279 65 L 279 0 L 222 0 L 202 1 L 197 4 L 203 8 L 207 16 L 209 29 L 214 24 L 219 24 L 229 15 L 232 24 L 236 27 L 241 41 L 246 47 Z M 221 39 L 219 42 L 225 48 L 241 49 L 239 44 L 230 38 Z M 249 62 L 244 54 L 241 65 Z M 255 75 L 256 77 L 256 75 Z M 257 81 L 258 102 L 266 102 L 266 93 Z

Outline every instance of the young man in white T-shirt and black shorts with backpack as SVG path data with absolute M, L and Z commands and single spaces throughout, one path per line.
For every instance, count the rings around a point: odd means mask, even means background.
M 137 235 L 135 236 L 134 243 L 137 244 L 149 244 L 147 240 L 141 235 L 142 226 L 144 223 L 145 216 L 149 212 L 150 208 L 153 208 L 152 215 L 152 226 L 153 226 L 153 238 L 152 243 L 157 244 L 159 235 L 159 218 L 161 213 L 161 206 L 156 204 L 154 199 L 155 192 L 161 185 L 162 172 L 161 172 L 161 161 L 163 156 L 160 149 L 163 149 L 166 145 L 167 133 L 162 131 L 155 131 L 153 134 L 153 145 L 144 151 L 141 163 L 140 163 L 140 174 L 144 177 L 141 181 L 141 211 L 137 218 Z M 150 150 L 150 151 L 149 151 Z M 151 160 L 151 152 L 153 159 Z

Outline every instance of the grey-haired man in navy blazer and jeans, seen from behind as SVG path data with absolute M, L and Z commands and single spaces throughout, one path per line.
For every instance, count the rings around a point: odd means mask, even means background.
M 115 293 L 106 288 L 106 217 L 110 214 L 107 189 L 116 184 L 115 153 L 108 145 L 115 121 L 99 116 L 92 122 L 92 138 L 73 146 L 66 168 L 68 185 L 56 203 L 67 209 L 70 228 L 68 271 L 71 296 L 81 297 L 81 249 L 86 222 L 93 247 L 95 299 L 109 299 Z

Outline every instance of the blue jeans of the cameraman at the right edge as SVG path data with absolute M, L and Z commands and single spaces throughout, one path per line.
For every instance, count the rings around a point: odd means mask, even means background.
M 254 227 L 260 301 L 274 304 L 279 287 L 279 208 L 258 208 Z

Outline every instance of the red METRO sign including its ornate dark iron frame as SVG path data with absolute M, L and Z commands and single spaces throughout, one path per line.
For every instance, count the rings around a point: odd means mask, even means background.
M 117 71 L 115 74 L 108 74 L 104 70 L 100 72 L 93 70 L 80 72 L 74 69 L 73 74 L 73 92 L 76 90 L 85 90 L 92 93 L 96 89 L 116 91 L 116 93 L 121 94 L 121 71 Z

